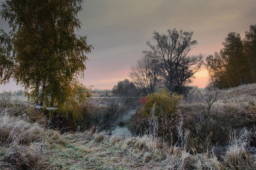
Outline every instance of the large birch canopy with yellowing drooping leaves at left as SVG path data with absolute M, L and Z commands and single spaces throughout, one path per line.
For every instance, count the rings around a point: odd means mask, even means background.
M 86 69 L 86 36 L 75 34 L 82 0 L 8 0 L 1 17 L 10 24 L 9 34 L 0 30 L 1 83 L 13 78 L 35 100 L 64 104 L 80 88 L 78 76 Z M 72 91 L 72 92 L 71 92 Z M 38 96 L 37 96 L 38 95 Z

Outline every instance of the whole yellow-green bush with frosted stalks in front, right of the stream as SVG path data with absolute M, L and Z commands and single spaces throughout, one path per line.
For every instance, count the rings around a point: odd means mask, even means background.
M 160 136 L 166 142 L 178 142 L 176 125 L 178 123 L 178 110 L 182 96 L 161 89 L 146 98 L 140 98 L 143 107 L 137 109 L 132 115 L 131 130 L 135 134 L 153 134 Z

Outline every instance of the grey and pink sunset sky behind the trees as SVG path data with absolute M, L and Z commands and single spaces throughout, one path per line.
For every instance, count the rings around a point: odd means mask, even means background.
M 4 0 L 0 0 L 1 2 Z M 223 47 L 230 32 L 241 34 L 256 24 L 255 0 L 85 0 L 78 19 L 83 24 L 77 34 L 87 35 L 87 43 L 94 50 L 87 55 L 84 79 L 87 87 L 112 89 L 118 81 L 129 79 L 131 66 L 150 50 L 147 41 L 153 32 L 167 34 L 167 30 L 193 31 L 197 45 L 188 55 L 205 58 Z M 0 7 L 1 9 L 1 7 Z M 0 28 L 9 25 L 0 20 Z M 192 85 L 207 85 L 206 70 L 195 74 Z M 18 90 L 12 80 L 0 85 L 0 90 Z

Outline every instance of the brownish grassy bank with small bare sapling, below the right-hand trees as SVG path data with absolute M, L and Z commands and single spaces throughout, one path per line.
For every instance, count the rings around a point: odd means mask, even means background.
M 191 132 L 190 148 L 206 152 L 217 143 L 225 145 L 233 129 L 239 132 L 246 128 L 254 133 L 256 84 L 228 90 L 200 90 L 199 93 L 192 89 L 192 92 L 178 108 L 184 128 Z M 255 139 L 255 135 L 251 137 Z

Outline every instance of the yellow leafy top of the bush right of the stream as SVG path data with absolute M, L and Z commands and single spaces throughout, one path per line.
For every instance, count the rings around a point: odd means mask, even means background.
M 143 115 L 150 116 L 151 109 L 155 104 L 155 116 L 157 117 L 174 117 L 177 114 L 176 107 L 181 104 L 183 96 L 176 93 L 170 93 L 166 88 L 159 92 L 146 96 L 146 104 L 143 106 Z

